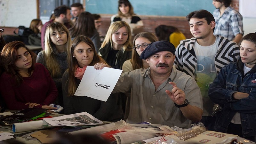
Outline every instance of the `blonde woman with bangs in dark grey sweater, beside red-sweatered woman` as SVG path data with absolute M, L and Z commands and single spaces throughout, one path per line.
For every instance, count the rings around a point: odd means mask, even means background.
M 55 104 L 63 106 L 61 78 L 68 68 L 67 55 L 71 47 L 68 29 L 60 22 L 48 25 L 45 32 L 45 49 L 39 52 L 36 62 L 41 63 L 50 72 L 59 92 Z

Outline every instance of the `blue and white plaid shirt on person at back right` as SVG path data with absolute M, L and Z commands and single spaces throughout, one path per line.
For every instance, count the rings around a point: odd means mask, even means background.
M 214 35 L 220 35 L 232 41 L 237 34 L 244 35 L 243 17 L 234 8 L 228 6 L 225 12 L 220 16 L 220 9 L 213 11 L 216 21 Z

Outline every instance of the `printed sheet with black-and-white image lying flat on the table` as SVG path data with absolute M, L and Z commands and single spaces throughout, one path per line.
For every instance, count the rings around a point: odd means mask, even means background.
M 51 126 L 82 126 L 103 124 L 102 121 L 98 120 L 87 112 L 44 118 L 43 120 Z

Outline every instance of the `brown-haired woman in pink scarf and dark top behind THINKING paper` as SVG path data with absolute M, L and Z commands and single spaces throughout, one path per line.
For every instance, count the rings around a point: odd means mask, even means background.
M 96 52 L 95 47 L 87 36 L 77 36 L 72 42 L 68 55 L 68 70 L 62 77 L 64 113 L 74 114 L 88 112 L 99 120 L 116 122 L 123 118 L 118 97 L 110 95 L 108 100 L 101 101 L 87 96 L 74 96 L 87 66 L 99 64 L 101 68 L 109 67 Z

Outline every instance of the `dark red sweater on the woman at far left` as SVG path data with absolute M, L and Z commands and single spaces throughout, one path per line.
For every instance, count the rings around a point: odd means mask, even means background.
M 33 74 L 22 77 L 23 82 L 15 86 L 15 78 L 4 72 L 0 77 L 0 92 L 8 109 L 20 110 L 28 108 L 27 102 L 41 104 L 53 103 L 58 96 L 57 88 L 49 72 L 42 64 L 36 63 Z

